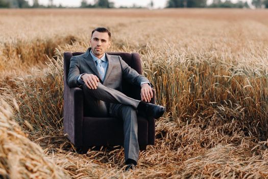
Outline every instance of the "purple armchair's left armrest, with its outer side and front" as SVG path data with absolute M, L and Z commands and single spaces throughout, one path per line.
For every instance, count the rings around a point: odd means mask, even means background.
M 64 86 L 63 127 L 69 140 L 76 146 L 83 145 L 82 127 L 84 116 L 83 90 Z

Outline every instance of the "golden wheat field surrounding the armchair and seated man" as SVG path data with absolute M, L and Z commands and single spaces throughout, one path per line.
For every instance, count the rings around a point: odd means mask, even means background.
M 268 11 L 0 10 L 0 178 L 268 178 Z M 78 154 L 63 133 L 63 53 L 95 27 L 139 52 L 166 113 L 124 149 Z

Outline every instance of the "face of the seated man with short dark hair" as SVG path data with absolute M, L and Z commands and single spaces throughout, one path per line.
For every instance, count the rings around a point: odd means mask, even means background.
M 107 32 L 95 31 L 90 39 L 92 53 L 101 58 L 111 46 L 111 41 Z

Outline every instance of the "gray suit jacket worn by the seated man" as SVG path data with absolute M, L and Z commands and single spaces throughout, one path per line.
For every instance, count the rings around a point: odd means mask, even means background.
M 109 55 L 107 53 L 105 55 L 108 60 L 108 66 L 106 75 L 102 81 L 96 68 L 96 64 L 90 55 L 90 50 L 91 49 L 89 48 L 86 53 L 71 57 L 67 79 L 69 87 L 79 87 L 77 79 L 79 75 L 83 73 L 98 76 L 103 85 L 120 92 L 122 92 L 121 84 L 123 79 L 138 86 L 140 86 L 141 82 L 149 82 L 146 77 L 139 75 L 120 56 Z

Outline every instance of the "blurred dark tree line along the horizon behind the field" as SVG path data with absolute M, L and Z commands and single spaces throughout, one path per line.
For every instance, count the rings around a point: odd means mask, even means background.
M 157 1 L 157 0 L 156 0 Z M 53 0 L 48 0 L 47 6 L 40 5 L 38 0 L 34 0 L 33 5 L 29 5 L 27 0 L 0 0 L 0 8 L 64 8 L 63 6 L 55 6 Z M 148 4 L 147 8 L 153 8 L 153 0 Z M 213 0 L 212 4 L 207 5 L 207 0 L 167 0 L 166 8 L 268 8 L 268 0 L 252 0 L 251 5 L 247 2 L 239 0 L 232 3 L 230 0 Z M 81 1 L 79 8 L 115 8 L 114 3 L 109 0 L 95 0 L 94 3 L 88 4 L 86 0 Z M 119 8 L 145 8 L 136 6 L 132 7 L 120 6 Z

